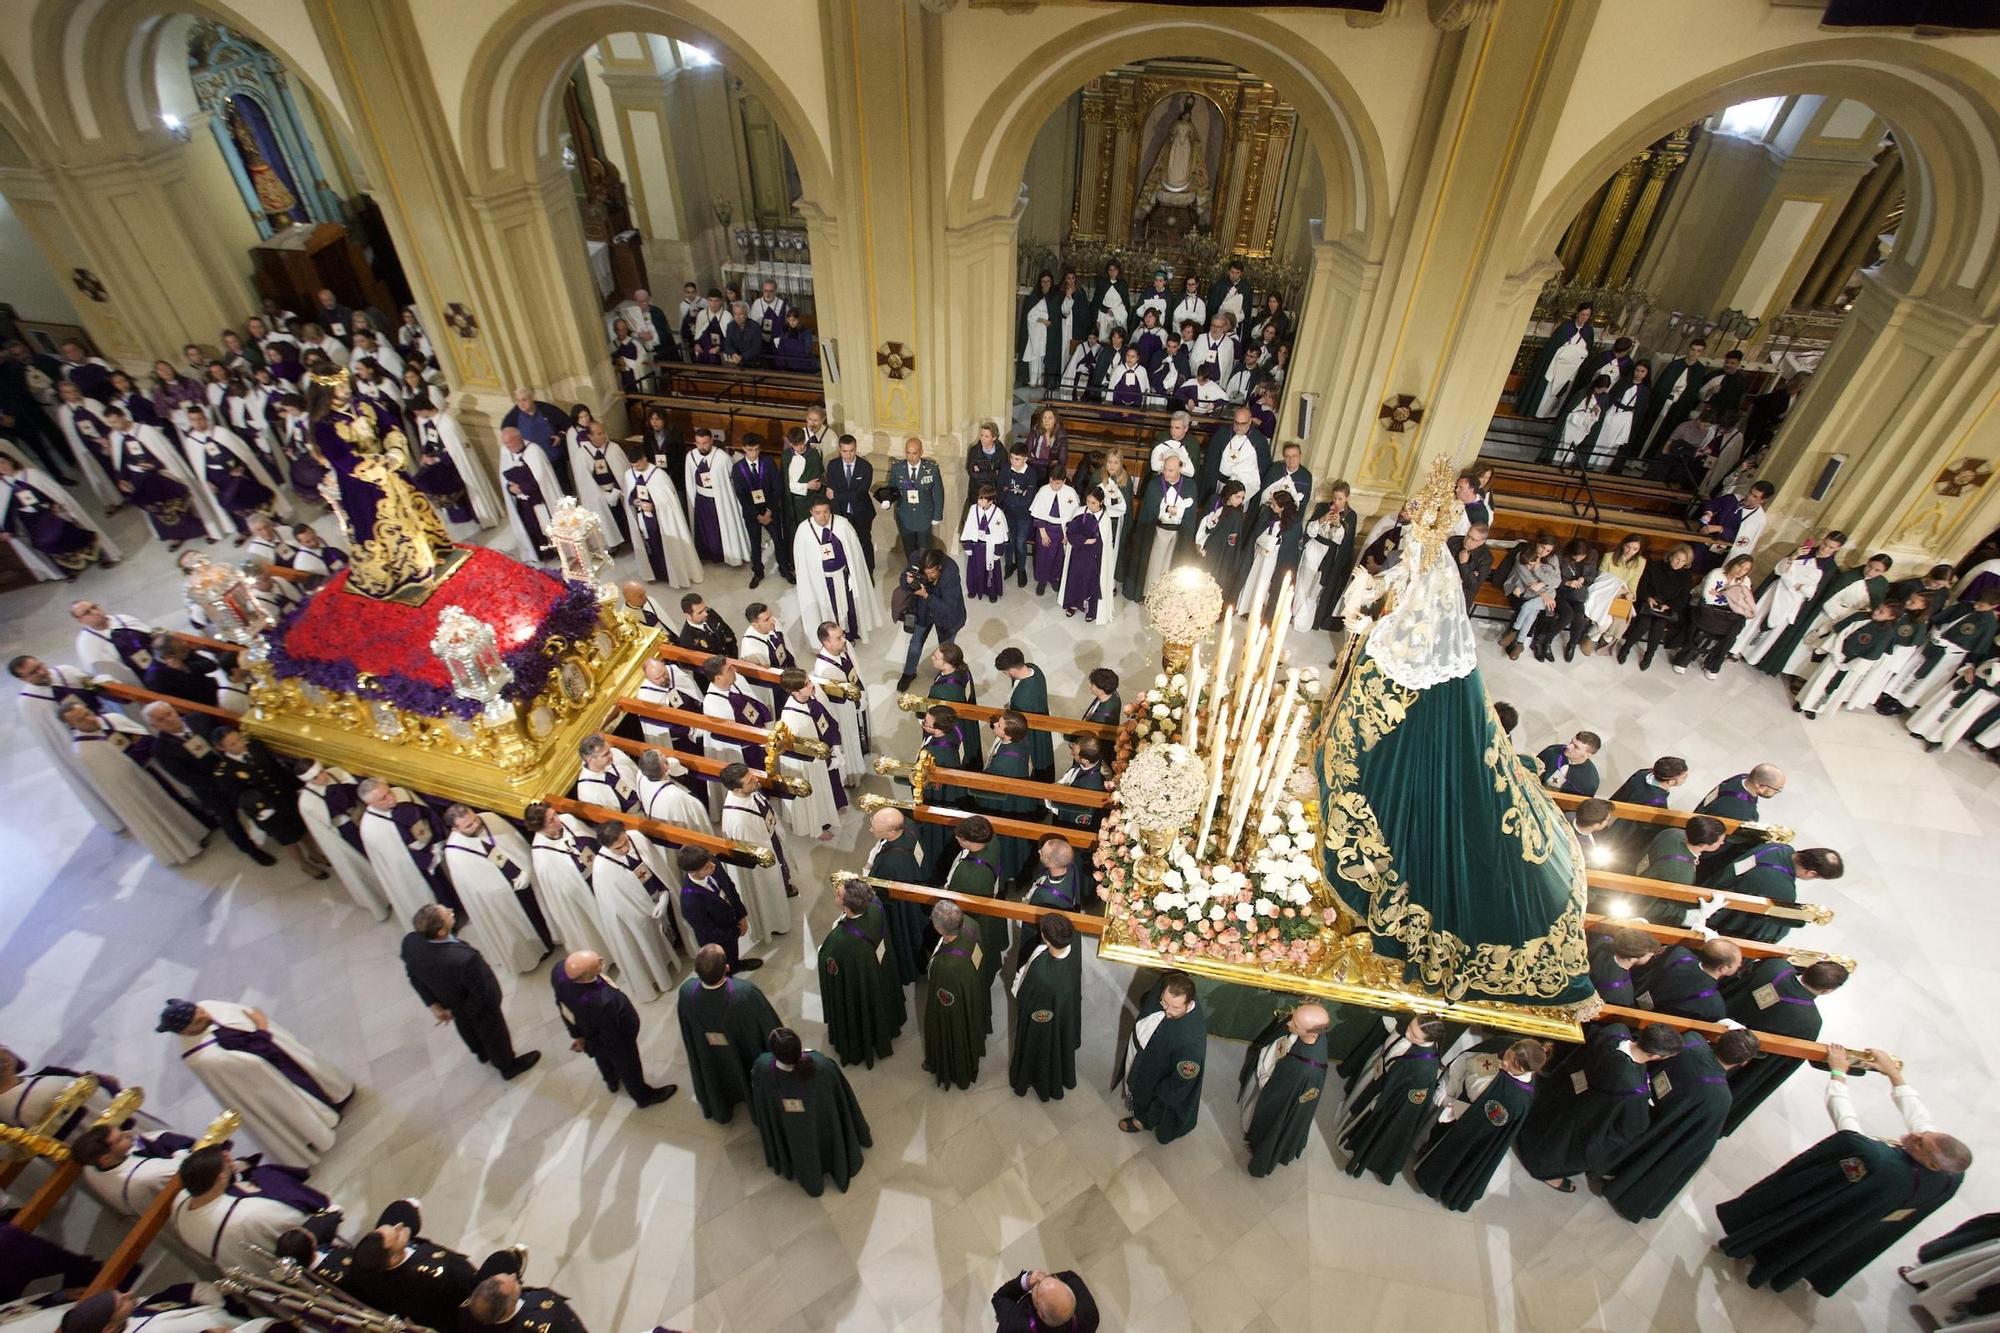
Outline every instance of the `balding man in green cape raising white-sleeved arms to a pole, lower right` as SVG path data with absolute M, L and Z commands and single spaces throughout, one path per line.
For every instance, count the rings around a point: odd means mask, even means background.
M 1828 1047 L 1826 1113 L 1834 1133 L 1716 1205 L 1724 1231 L 1716 1247 L 1730 1259 L 1752 1261 L 1752 1287 L 1786 1291 L 1804 1281 L 1820 1295 L 1834 1295 L 1956 1195 L 1972 1167 L 1972 1149 L 1932 1127 L 1896 1059 L 1870 1051 L 1868 1061 L 1888 1075 L 1906 1129 L 1902 1139 L 1862 1133 L 1846 1087 L 1852 1057 Z

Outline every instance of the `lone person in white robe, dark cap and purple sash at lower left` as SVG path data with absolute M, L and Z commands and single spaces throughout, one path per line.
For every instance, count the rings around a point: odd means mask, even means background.
M 216 1103 L 242 1117 L 272 1161 L 312 1167 L 334 1147 L 354 1081 L 264 1011 L 170 999 L 156 1031 L 180 1035 L 180 1063 Z

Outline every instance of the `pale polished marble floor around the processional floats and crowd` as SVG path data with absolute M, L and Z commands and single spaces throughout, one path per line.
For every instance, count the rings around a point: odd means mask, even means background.
M 92 572 L 82 590 L 112 610 L 176 620 L 162 548 L 140 542 L 128 516 L 114 530 L 134 558 Z M 766 582 L 756 596 L 784 590 Z M 712 572 L 704 592 L 740 626 L 752 600 L 740 572 Z M 44 584 L 0 598 L 6 652 L 66 660 L 70 596 Z M 2000 997 L 2000 771 L 1970 753 L 1930 759 L 1874 715 L 1804 723 L 1776 683 L 1744 669 L 1710 683 L 1602 658 L 1510 662 L 1492 650 L 1494 632 L 1480 630 L 1488 687 L 1520 709 L 1528 749 L 1588 727 L 1606 737 L 1608 783 L 1678 753 L 1696 791 L 1754 761 L 1786 767 L 1790 787 L 1770 815 L 1850 867 L 1816 895 L 1838 921 L 1812 943 L 1862 959 L 1826 1005 L 1828 1035 L 1906 1057 L 1940 1125 L 1988 1159 L 1914 1239 L 2000 1207 L 2000 1133 L 1978 1113 L 2000 1065 L 2000 1037 L 1980 1017 Z M 962 642 L 988 693 L 992 650 L 1026 646 L 1056 711 L 1074 705 L 1088 669 L 1148 677 L 1156 652 L 1138 608 L 1086 626 L 1014 588 L 974 610 Z M 884 685 L 896 675 L 888 650 L 886 640 L 866 650 Z M 1294 650 L 1328 656 L 1320 638 Z M 914 753 L 914 721 L 886 697 L 878 735 Z M 1826 1133 L 1822 1081 L 1808 1073 L 1654 1223 L 1632 1227 L 1590 1193 L 1554 1195 L 1518 1169 L 1472 1213 L 1446 1213 L 1404 1183 L 1348 1179 L 1324 1135 L 1302 1163 L 1252 1181 L 1232 1133 L 1240 1047 L 1224 1041 L 1210 1051 L 1194 1135 L 1164 1149 L 1120 1135 L 1104 1089 L 1130 973 L 1092 961 L 1072 1095 L 1016 1099 L 1004 1051 L 988 1055 L 972 1091 L 944 1093 L 904 1041 L 886 1065 L 850 1075 L 874 1129 L 866 1169 L 846 1195 L 808 1199 L 764 1169 L 746 1115 L 726 1127 L 700 1117 L 670 999 L 642 1007 L 644 1051 L 650 1077 L 684 1091 L 634 1111 L 568 1053 L 542 977 L 508 977 L 516 1045 L 540 1047 L 544 1061 L 502 1085 L 450 1029 L 432 1027 L 396 963 L 396 927 L 282 865 L 256 871 L 220 841 L 182 869 L 150 863 L 50 781 L 12 709 L 0 711 L 0 803 L 10 815 L 0 1043 L 114 1071 L 148 1089 L 148 1109 L 198 1127 L 214 1105 L 178 1067 L 174 1041 L 154 1035 L 160 999 L 262 1005 L 364 1089 L 316 1173 L 350 1213 L 414 1193 L 426 1229 L 460 1249 L 526 1241 L 532 1281 L 568 1293 L 598 1333 L 984 1329 L 988 1293 L 1024 1267 L 1078 1269 L 1106 1329 L 1146 1333 L 1918 1327 L 1894 1273 L 1914 1241 L 1824 1301 L 1750 1291 L 1710 1249 L 1712 1205 Z M 856 865 L 866 837 L 848 819 L 832 845 L 810 849 L 802 921 L 756 977 L 808 1043 L 822 1033 L 810 959 L 832 917 L 824 875 Z M 1338 1113 L 1326 1101 L 1322 1131 Z M 1900 1131 L 1880 1083 L 1858 1085 L 1856 1101 L 1872 1129 Z M 86 1203 L 64 1219 L 72 1239 L 94 1225 Z M 96 1227 L 98 1245 L 110 1235 Z

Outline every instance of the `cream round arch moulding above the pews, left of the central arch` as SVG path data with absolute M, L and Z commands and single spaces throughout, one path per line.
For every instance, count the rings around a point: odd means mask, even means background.
M 518 0 L 502 14 L 472 56 L 460 104 L 460 144 L 474 190 L 498 178 L 534 176 L 536 162 L 550 152 L 562 78 L 590 46 L 616 32 L 714 46 L 716 60 L 770 108 L 806 198 L 834 198 L 832 164 L 806 108 L 750 40 L 682 0 L 584 0 L 564 8 Z

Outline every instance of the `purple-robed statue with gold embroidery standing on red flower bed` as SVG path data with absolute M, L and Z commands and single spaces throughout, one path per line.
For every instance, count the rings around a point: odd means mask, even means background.
M 326 464 L 320 482 L 348 536 L 348 590 L 422 600 L 464 550 L 444 520 L 408 482 L 402 430 L 368 398 L 356 398 L 346 370 L 312 376 L 312 448 Z

